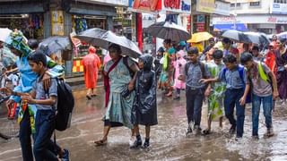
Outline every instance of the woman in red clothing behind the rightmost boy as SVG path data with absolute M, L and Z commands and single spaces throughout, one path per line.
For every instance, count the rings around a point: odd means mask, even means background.
M 269 50 L 268 53 L 265 56 L 265 64 L 270 68 L 271 72 L 273 72 L 276 75 L 277 68 L 275 64 L 275 51 L 277 48 L 277 43 L 275 41 L 271 42 L 269 44 Z

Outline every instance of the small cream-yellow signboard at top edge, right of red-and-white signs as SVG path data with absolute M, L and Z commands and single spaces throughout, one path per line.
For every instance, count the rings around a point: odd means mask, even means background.
M 215 0 L 196 0 L 196 11 L 201 13 L 214 13 Z

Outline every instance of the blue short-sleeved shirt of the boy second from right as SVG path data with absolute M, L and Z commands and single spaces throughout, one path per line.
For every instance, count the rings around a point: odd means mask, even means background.
M 243 68 L 240 66 L 240 68 Z M 243 71 L 243 80 L 239 75 L 239 66 L 232 71 L 226 70 L 225 75 L 223 74 L 224 69 L 219 74 L 219 79 L 226 82 L 227 89 L 243 89 L 245 84 L 248 84 L 246 70 Z

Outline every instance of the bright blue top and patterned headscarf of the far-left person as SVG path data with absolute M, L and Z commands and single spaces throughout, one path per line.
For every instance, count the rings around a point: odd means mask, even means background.
M 15 92 L 29 93 L 32 89 L 32 84 L 35 80 L 37 80 L 38 75 L 35 72 L 32 72 L 28 55 L 31 54 L 32 50 L 25 42 L 25 39 L 20 31 L 14 31 L 11 33 L 11 36 L 5 42 L 8 46 L 13 47 L 19 51 L 21 51 L 21 57 L 18 57 L 16 60 L 16 64 L 19 72 L 21 73 L 19 85 L 13 89 Z M 48 62 L 48 70 L 49 75 L 52 78 L 58 77 L 64 73 L 64 68 L 61 65 L 55 64 L 51 59 L 47 56 Z M 26 103 L 21 101 L 21 97 L 12 96 L 10 99 L 13 99 L 16 103 L 20 103 L 20 110 L 18 114 L 18 123 L 21 123 L 22 118 L 25 114 L 25 110 L 29 110 L 30 114 L 30 127 L 32 133 L 35 133 L 35 117 L 37 108 L 35 105 L 27 105 Z

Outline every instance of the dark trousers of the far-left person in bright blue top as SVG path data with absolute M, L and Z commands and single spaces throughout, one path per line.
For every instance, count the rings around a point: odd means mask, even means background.
M 19 131 L 19 140 L 20 140 L 21 149 L 22 149 L 23 161 L 34 160 L 30 136 L 31 136 L 30 114 L 27 109 L 20 123 L 20 131 Z

